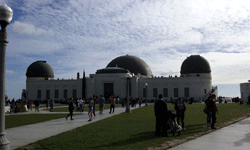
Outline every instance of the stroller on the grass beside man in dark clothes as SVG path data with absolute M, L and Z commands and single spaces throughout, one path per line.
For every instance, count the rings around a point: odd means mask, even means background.
M 169 119 L 167 121 L 167 131 L 170 129 L 171 132 L 173 133 L 173 136 L 175 135 L 175 133 L 178 133 L 178 135 L 180 135 L 182 128 L 181 126 L 178 125 L 178 123 L 175 120 L 176 113 L 173 110 L 169 110 L 168 116 Z

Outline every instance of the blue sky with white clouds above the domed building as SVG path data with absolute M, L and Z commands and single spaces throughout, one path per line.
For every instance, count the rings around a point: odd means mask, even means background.
M 219 95 L 240 96 L 250 79 L 250 1 L 4 0 L 6 94 L 20 98 L 26 69 L 46 60 L 55 78 L 95 73 L 121 55 L 143 59 L 155 76 L 180 75 L 190 55 L 206 58 Z

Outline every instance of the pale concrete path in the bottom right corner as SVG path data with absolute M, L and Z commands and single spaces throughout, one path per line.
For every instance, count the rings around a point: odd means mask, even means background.
M 250 150 L 250 118 L 169 150 Z

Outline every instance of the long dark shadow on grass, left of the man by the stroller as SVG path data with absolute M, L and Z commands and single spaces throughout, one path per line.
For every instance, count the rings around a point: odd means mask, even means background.
M 124 140 L 120 140 L 120 141 L 116 141 L 113 143 L 108 143 L 108 144 L 102 144 L 102 145 L 98 145 L 98 146 L 94 146 L 94 147 L 89 147 L 89 148 L 103 148 L 103 147 L 116 147 L 116 146 L 123 146 L 123 145 L 129 145 L 129 144 L 134 144 L 134 143 L 138 143 L 140 141 L 147 141 L 147 140 L 152 140 L 155 138 L 160 138 L 160 137 L 156 137 L 155 136 L 155 132 L 141 132 L 139 134 L 133 135 L 131 138 L 129 139 L 124 139 Z

